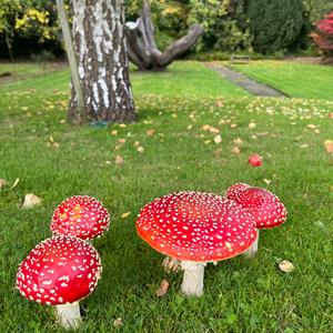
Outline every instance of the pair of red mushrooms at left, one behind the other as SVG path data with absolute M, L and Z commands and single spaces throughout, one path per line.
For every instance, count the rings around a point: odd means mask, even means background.
M 28 300 L 53 305 L 59 324 L 67 330 L 79 327 L 79 301 L 94 291 L 102 272 L 89 240 L 100 236 L 109 224 L 109 213 L 98 200 L 72 196 L 53 213 L 53 235 L 32 249 L 19 266 L 19 292 Z

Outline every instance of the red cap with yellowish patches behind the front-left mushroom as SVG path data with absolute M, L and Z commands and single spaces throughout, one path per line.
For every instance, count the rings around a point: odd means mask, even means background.
M 94 198 L 77 195 L 64 200 L 53 212 L 51 231 L 92 240 L 109 229 L 110 215 L 107 209 Z

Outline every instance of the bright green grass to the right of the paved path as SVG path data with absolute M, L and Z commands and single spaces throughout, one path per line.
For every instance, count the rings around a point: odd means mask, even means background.
M 293 98 L 333 100 L 332 65 L 274 60 L 228 65 Z

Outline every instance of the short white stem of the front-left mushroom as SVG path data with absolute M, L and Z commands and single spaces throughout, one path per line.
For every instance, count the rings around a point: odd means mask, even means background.
M 65 330 L 77 330 L 81 322 L 79 302 L 54 305 L 59 324 Z

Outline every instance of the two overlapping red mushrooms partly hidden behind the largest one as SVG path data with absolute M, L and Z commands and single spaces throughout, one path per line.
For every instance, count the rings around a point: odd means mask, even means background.
M 271 229 L 286 220 L 285 206 L 268 190 L 238 183 L 226 190 L 225 196 L 241 204 L 252 215 L 258 229 Z M 258 252 L 258 243 L 259 233 L 254 244 L 245 252 L 249 258 Z

